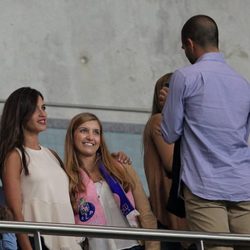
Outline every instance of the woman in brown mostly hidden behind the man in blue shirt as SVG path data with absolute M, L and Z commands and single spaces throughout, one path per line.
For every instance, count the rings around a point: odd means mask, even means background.
M 184 219 L 167 210 L 171 189 L 171 173 L 174 144 L 167 144 L 161 134 L 161 111 L 168 95 L 168 84 L 172 73 L 160 77 L 154 89 L 151 116 L 144 133 L 144 170 L 149 188 L 149 200 L 157 218 L 159 229 L 186 230 Z M 178 242 L 162 242 L 161 249 L 182 249 Z

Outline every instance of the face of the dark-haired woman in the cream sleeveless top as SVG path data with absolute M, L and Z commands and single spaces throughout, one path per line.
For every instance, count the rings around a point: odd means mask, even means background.
M 44 100 L 41 96 L 37 98 L 37 105 L 34 113 L 24 126 L 24 132 L 38 134 L 47 127 L 47 113 Z

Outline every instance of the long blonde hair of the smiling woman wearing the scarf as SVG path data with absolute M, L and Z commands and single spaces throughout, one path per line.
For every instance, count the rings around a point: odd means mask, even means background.
M 68 126 L 64 148 L 65 171 L 69 176 L 70 200 L 74 212 L 77 212 L 76 202 L 78 192 L 85 191 L 85 185 L 80 178 L 79 168 L 81 163 L 78 157 L 79 153 L 74 144 L 74 132 L 81 124 L 88 121 L 97 121 L 100 126 L 101 141 L 97 151 L 97 161 L 101 160 L 103 162 L 109 174 L 120 182 L 125 191 L 128 191 L 133 185 L 132 180 L 126 172 L 126 168 L 120 167 L 119 163 L 111 156 L 105 143 L 101 121 L 92 113 L 80 113 L 72 118 Z M 81 167 L 84 168 L 84 166 Z

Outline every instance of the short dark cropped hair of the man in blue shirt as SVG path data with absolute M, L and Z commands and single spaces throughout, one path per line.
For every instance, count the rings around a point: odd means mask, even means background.
M 181 31 L 182 43 L 190 38 L 201 47 L 214 46 L 218 48 L 219 31 L 216 22 L 209 16 L 197 15 L 191 17 Z

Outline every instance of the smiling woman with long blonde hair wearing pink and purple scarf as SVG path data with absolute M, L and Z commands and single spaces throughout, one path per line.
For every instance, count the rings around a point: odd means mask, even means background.
M 135 170 L 113 160 L 102 124 L 94 114 L 81 113 L 71 120 L 65 141 L 65 168 L 77 224 L 157 227 Z M 90 250 L 144 249 L 136 240 L 88 240 Z M 159 249 L 159 243 L 146 242 L 145 249 Z

